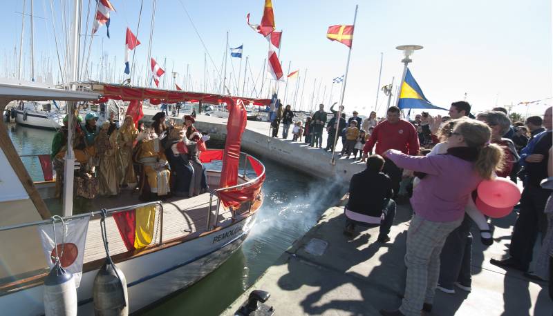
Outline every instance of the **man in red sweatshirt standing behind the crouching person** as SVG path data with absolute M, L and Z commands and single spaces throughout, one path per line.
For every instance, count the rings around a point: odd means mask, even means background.
M 396 106 L 388 108 L 386 118 L 386 121 L 375 127 L 371 138 L 365 143 L 363 157 L 367 157 L 368 152 L 373 151 L 375 144 L 375 154 L 377 155 L 382 155 L 388 149 L 400 150 L 406 155 L 418 155 L 419 137 L 415 126 L 409 121 L 400 119 L 400 109 Z M 386 159 L 382 172 L 390 177 L 394 197 L 397 197 L 403 170 L 395 166 L 391 160 Z

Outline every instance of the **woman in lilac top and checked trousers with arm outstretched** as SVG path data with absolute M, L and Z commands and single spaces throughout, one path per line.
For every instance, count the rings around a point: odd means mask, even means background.
M 399 310 L 382 315 L 420 315 L 430 311 L 444 242 L 465 215 L 471 193 L 503 166 L 503 150 L 490 144 L 490 128 L 474 119 L 458 121 L 447 139 L 447 154 L 409 156 L 384 153 L 400 168 L 426 174 L 411 198 L 413 218 L 407 233 L 405 294 Z

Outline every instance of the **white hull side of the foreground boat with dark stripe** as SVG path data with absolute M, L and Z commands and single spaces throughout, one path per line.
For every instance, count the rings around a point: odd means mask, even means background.
M 237 250 L 255 221 L 255 213 L 225 229 L 153 251 L 117 264 L 129 290 L 129 312 L 135 312 L 186 288 L 212 273 Z M 77 289 L 79 315 L 94 315 L 93 282 L 97 270 L 82 276 Z M 43 315 L 44 286 L 35 286 L 0 297 L 2 310 L 12 315 Z

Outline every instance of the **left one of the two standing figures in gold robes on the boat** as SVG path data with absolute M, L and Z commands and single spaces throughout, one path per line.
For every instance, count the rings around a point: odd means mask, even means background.
M 100 195 L 118 195 L 119 177 L 117 172 L 117 130 L 110 133 L 110 123 L 105 122 L 96 138 L 96 152 L 100 158 L 98 168 L 98 181 L 100 182 Z

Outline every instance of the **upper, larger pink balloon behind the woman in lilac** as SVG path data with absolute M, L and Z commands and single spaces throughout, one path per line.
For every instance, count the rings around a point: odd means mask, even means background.
M 505 178 L 484 180 L 480 182 L 477 190 L 482 202 L 494 208 L 509 208 L 515 206 L 521 199 L 521 190 L 518 186 Z

